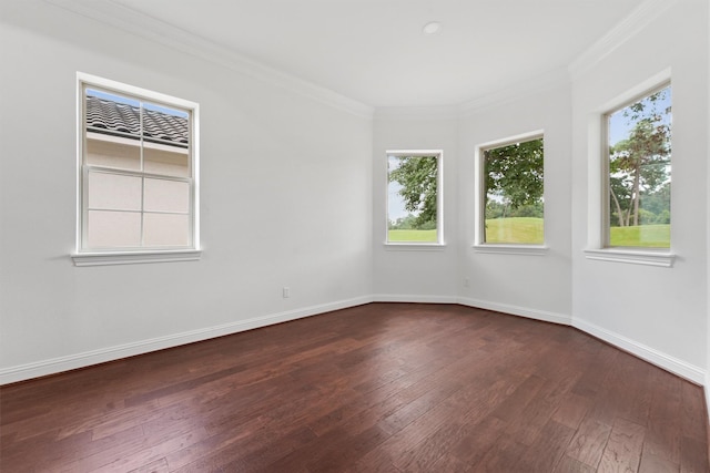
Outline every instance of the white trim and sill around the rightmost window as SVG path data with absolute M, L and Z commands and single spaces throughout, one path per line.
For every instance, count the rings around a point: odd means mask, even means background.
M 587 125 L 587 184 L 589 189 L 587 223 L 588 247 L 584 249 L 587 259 L 663 268 L 671 268 L 673 266 L 677 255 L 671 248 L 653 249 L 607 246 L 609 241 L 609 158 L 605 152 L 607 147 L 607 125 L 605 123 L 607 114 L 610 111 L 632 103 L 635 100 L 642 99 L 648 95 L 649 92 L 659 90 L 670 83 L 671 69 L 668 68 L 605 103 L 589 115 Z

